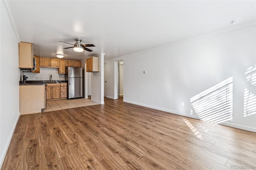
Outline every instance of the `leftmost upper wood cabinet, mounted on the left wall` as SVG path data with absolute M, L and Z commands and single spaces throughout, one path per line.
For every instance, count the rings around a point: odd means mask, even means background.
M 33 43 L 19 43 L 19 67 L 33 69 Z

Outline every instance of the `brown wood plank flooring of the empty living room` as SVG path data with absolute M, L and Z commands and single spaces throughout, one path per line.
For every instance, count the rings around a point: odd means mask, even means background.
M 1 169 L 226 170 L 233 165 L 256 169 L 256 133 L 105 99 L 104 105 L 20 116 Z

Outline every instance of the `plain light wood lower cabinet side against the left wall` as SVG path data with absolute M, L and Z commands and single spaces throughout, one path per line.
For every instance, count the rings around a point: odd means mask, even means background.
M 45 85 L 20 85 L 20 115 L 42 112 L 45 95 Z

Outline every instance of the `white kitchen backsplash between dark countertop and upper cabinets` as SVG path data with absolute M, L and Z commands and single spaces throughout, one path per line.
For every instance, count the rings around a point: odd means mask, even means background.
M 65 75 L 59 74 L 59 69 L 56 68 L 40 68 L 40 73 L 30 73 L 30 72 L 21 72 L 22 75 L 26 75 L 28 80 L 50 80 L 50 75 L 52 75 L 53 80 L 64 80 Z M 38 79 L 36 79 L 38 77 Z

